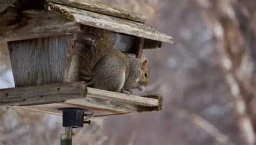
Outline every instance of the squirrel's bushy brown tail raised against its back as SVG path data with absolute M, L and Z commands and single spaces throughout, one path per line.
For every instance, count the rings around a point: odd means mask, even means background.
M 95 27 L 86 26 L 85 31 L 77 35 L 77 41 L 71 53 L 77 57 L 78 81 L 85 81 L 88 86 L 93 83 L 91 80 L 93 68 L 113 49 L 115 42 L 114 32 Z

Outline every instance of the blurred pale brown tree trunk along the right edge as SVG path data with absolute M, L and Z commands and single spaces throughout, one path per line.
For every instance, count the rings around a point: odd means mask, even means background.
M 244 144 L 255 144 L 256 1 L 198 0 L 234 100 Z M 225 120 L 224 120 L 225 121 Z

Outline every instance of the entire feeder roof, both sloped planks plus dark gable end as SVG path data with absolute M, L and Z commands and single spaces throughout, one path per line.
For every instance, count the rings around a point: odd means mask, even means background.
M 25 0 L 28 1 L 28 0 Z M 173 43 L 172 37 L 145 24 L 146 18 L 117 6 L 91 0 L 41 0 L 46 10 L 37 7 L 7 9 L 15 0 L 0 2 L 0 41 L 16 41 L 76 33 L 81 25 L 103 28 L 117 33 L 159 42 Z M 30 2 L 30 1 L 29 1 Z M 35 5 L 34 3 L 28 5 Z M 41 2 L 42 3 L 42 2 Z M 39 8 L 43 8 L 43 3 Z M 18 4 L 13 9 L 26 6 Z M 6 9 L 6 12 L 3 12 Z M 23 18 L 23 19 L 18 19 Z M 10 25 L 11 22 L 16 22 Z

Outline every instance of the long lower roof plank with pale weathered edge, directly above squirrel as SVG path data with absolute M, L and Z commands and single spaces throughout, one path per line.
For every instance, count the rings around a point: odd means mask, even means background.
M 70 6 L 54 4 L 50 2 L 45 3 L 45 8 L 62 15 L 69 20 L 77 23 L 89 25 L 106 30 L 134 35 L 137 37 L 169 42 L 172 43 L 172 37 L 167 34 L 158 32 L 152 27 L 147 26 L 136 21 L 126 20 L 122 18 L 106 16 L 96 12 L 72 8 Z

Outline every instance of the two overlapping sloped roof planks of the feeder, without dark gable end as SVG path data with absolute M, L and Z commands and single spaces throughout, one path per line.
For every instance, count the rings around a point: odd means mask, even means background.
M 173 42 L 169 35 L 144 24 L 144 16 L 102 2 L 48 0 L 45 9 L 79 24 L 171 44 Z

